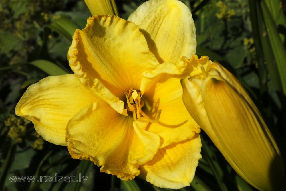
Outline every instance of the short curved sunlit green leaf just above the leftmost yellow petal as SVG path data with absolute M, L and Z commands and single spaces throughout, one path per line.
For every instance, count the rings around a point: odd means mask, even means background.
M 63 70 L 56 64 L 49 62 L 47 60 L 35 60 L 33 62 L 30 62 L 29 64 L 36 66 L 37 68 L 43 70 L 50 76 L 58 76 L 62 74 L 68 74 L 67 71 Z

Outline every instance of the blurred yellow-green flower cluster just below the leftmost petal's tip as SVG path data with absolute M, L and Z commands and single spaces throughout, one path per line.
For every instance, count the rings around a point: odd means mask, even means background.
M 11 115 L 4 123 L 7 127 L 10 127 L 8 135 L 11 139 L 17 143 L 21 143 L 26 133 L 26 125 L 30 123 L 30 121 Z

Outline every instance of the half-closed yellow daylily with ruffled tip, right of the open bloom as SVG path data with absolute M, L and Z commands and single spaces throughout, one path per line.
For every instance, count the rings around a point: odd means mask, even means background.
M 258 190 L 285 190 L 280 151 L 239 81 L 207 56 L 193 55 L 183 101 L 233 169 Z

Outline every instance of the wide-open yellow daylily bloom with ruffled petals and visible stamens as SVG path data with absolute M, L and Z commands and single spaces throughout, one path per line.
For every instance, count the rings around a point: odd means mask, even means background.
M 180 79 L 195 53 L 190 10 L 180 1 L 142 4 L 125 21 L 95 15 L 68 51 L 74 74 L 30 86 L 16 114 L 75 159 L 155 186 L 190 185 L 201 158 L 200 128 L 182 101 Z

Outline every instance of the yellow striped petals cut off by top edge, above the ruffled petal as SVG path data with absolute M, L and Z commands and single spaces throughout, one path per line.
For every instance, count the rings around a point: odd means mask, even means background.
M 92 15 L 117 15 L 118 10 L 114 0 L 84 0 Z

